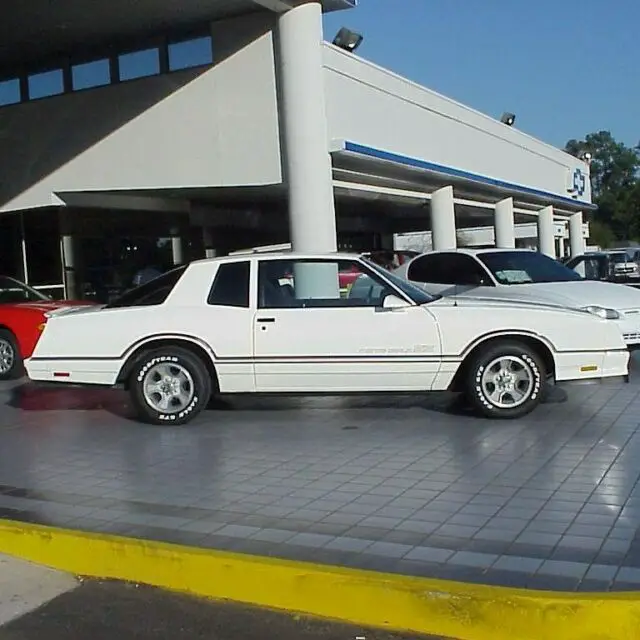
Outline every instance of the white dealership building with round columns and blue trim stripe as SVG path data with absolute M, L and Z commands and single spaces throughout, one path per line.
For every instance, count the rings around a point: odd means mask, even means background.
M 1 274 L 98 295 L 145 261 L 521 225 L 583 252 L 588 163 L 325 41 L 355 0 L 90 4 L 0 8 Z

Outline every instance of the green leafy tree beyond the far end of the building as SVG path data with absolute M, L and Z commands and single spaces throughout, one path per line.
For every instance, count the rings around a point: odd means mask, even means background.
M 590 222 L 597 223 L 598 235 L 640 237 L 640 149 L 618 142 L 610 131 L 598 131 L 584 140 L 569 140 L 565 151 L 576 157 L 591 154 L 591 191 L 598 211 Z

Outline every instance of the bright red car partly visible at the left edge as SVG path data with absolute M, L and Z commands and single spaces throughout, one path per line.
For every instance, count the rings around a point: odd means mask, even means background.
M 22 361 L 33 352 L 49 311 L 91 304 L 52 300 L 28 285 L 0 276 L 0 380 L 22 375 Z

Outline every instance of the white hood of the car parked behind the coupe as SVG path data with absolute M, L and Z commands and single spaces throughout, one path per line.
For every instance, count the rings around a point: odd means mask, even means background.
M 428 287 L 425 288 L 428 290 Z M 443 293 L 447 296 L 456 294 L 454 288 Z M 574 308 L 588 305 L 597 305 L 608 309 L 640 308 L 640 291 L 638 289 L 623 284 L 591 280 L 476 287 L 460 292 L 457 297 L 522 302 L 544 301 L 548 304 Z

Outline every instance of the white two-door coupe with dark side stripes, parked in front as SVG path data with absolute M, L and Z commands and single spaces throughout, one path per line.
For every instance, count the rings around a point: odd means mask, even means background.
M 339 273 L 375 285 L 339 293 Z M 36 381 L 124 385 L 141 419 L 184 424 L 212 394 L 464 392 L 516 418 L 556 381 L 628 373 L 592 313 L 434 297 L 363 257 L 227 256 L 170 271 L 104 306 L 52 313 L 25 361 Z

